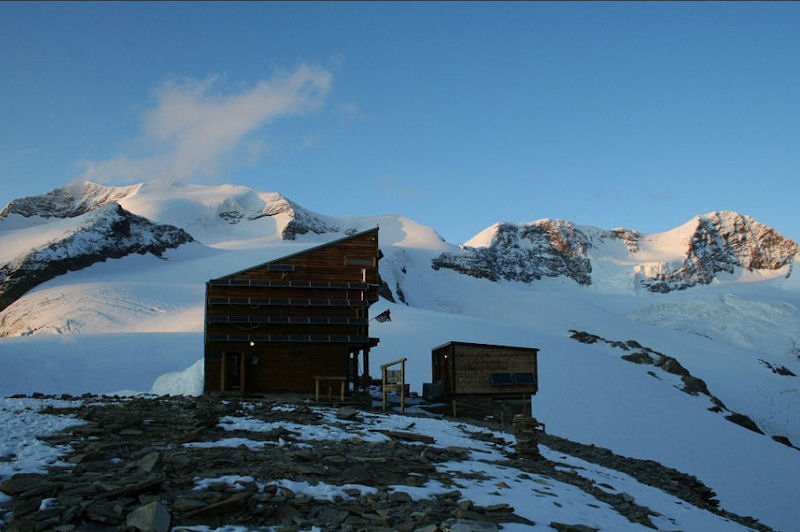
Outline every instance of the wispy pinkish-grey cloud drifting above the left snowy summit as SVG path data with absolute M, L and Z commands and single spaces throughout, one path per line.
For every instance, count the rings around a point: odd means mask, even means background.
M 265 150 L 251 134 L 280 116 L 319 109 L 331 82 L 328 70 L 301 65 L 235 94 L 215 91 L 216 76 L 164 83 L 155 90 L 155 108 L 144 117 L 141 153 L 85 161 L 82 177 L 117 183 L 212 180 L 239 151 L 253 164 Z

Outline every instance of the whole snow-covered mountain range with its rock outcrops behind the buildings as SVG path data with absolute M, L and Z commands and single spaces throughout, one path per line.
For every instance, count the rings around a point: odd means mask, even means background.
M 549 432 L 689 472 L 723 507 L 796 529 L 798 249 L 737 213 L 657 234 L 502 223 L 458 246 L 402 216 L 330 217 L 241 186 L 72 184 L 0 214 L 0 394 L 148 390 L 202 358 L 205 281 L 375 226 L 373 308 L 392 321 L 372 323 L 373 368 L 406 356 L 419 391 L 449 340 L 538 347 Z

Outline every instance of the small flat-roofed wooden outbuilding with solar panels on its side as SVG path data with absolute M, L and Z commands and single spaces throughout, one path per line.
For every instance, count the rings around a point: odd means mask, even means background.
M 462 413 L 530 415 L 531 396 L 539 389 L 538 353 L 532 347 L 448 342 L 431 351 L 433 382 L 454 408 L 463 405 Z

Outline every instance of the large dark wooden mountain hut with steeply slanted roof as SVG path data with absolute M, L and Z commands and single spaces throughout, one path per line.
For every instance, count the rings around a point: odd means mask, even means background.
M 313 392 L 319 378 L 368 380 L 378 258 L 375 228 L 208 281 L 205 391 Z

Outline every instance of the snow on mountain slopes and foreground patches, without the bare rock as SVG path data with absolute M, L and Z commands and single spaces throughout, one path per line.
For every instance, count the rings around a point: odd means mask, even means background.
M 685 258 L 683 246 L 697 226 L 692 220 L 673 231 L 640 235 L 636 253 L 619 239 L 592 240 L 587 251 L 592 261 L 588 286 L 564 277 L 530 284 L 493 282 L 451 269 L 434 270 L 433 259 L 445 252 L 460 253 L 461 248 L 401 216 L 326 217 L 304 211 L 277 194 L 233 186 L 146 184 L 127 187 L 122 196 L 117 201 L 124 209 L 181 227 L 197 242 L 168 250 L 164 258 L 134 254 L 60 275 L 0 312 L 0 336 L 6 336 L 0 338 L 0 396 L 198 394 L 206 280 L 341 238 L 346 230 L 377 225 L 384 255 L 380 272 L 395 302 L 382 299 L 372 307 L 373 315 L 387 308 L 392 315 L 391 322 L 371 322 L 371 336 L 381 339 L 371 352 L 373 376 L 380 364 L 408 357 L 407 379 L 412 391 L 421 392 L 422 383 L 431 379 L 434 346 L 459 340 L 537 347 L 540 393 L 533 398 L 533 413 L 549 433 L 696 475 L 719 495 L 725 509 L 752 515 L 777 529 L 800 530 L 800 451 L 772 439 L 786 437 L 800 447 L 796 259 L 776 270 L 739 267 L 711 284 L 667 294 L 642 289 L 637 275 L 652 273 L 664 261 Z M 75 202 L 91 203 L 90 199 L 80 197 Z M 294 234 L 294 240 L 281 238 L 290 222 L 303 217 L 312 220 L 308 232 Z M 18 214 L 0 218 L 2 257 L 11 260 L 25 246 L 44 245 L 73 223 L 71 218 L 23 218 Z M 491 245 L 493 227 L 468 244 Z M 601 234 L 593 228 L 581 230 L 590 238 Z M 401 302 L 401 294 L 407 304 Z M 622 352 L 606 344 L 576 342 L 569 337 L 571 329 L 615 341 L 636 340 L 674 357 L 703 379 L 727 408 L 748 416 L 765 434 L 710 412 L 708 397 L 680 391 L 674 375 L 623 360 Z M 770 369 L 780 367 L 794 376 Z M 3 401 L 0 425 L 4 427 L 32 415 L 25 408 L 34 403 Z M 30 419 L 25 423 L 31 432 L 21 436 L 26 441 L 40 430 Z M 418 424 L 417 430 L 443 435 L 442 445 L 457 444 L 447 439 L 456 438 L 456 425 L 437 423 Z M 45 425 L 41 430 L 50 430 Z M 5 434 L 0 457 L 13 445 L 10 432 Z M 7 452 L 18 454 L 13 449 Z M 23 458 L 0 461 L 0 466 L 33 468 L 37 462 L 51 463 L 53 456 L 33 454 L 30 460 L 23 457 L 24 462 Z M 676 504 L 616 471 L 571 457 L 559 459 L 581 475 L 606 479 L 637 500 L 647 500 L 647 506 L 663 510 L 664 519 L 656 523 L 659 529 L 741 529 Z M 530 504 L 531 512 L 546 509 L 550 513 L 545 515 L 552 514 L 554 521 L 574 522 L 580 515 L 585 519 L 581 522 L 606 530 L 633 528 L 602 504 L 590 506 L 588 496 L 574 487 L 514 482 L 511 473 L 480 457 L 472 466 L 482 468 L 493 484 L 502 481 L 511 486 L 503 492 L 503 500 L 517 508 Z M 10 472 L 0 469 L 1 475 Z M 482 501 L 479 504 L 492 504 L 487 486 L 476 482 L 463 491 Z M 317 495 L 325 489 L 308 487 Z M 436 489 L 429 486 L 428 491 Z M 546 504 L 531 499 L 535 489 L 549 492 L 542 495 Z M 564 505 L 551 504 L 553 497 Z M 549 522 L 541 515 L 532 519 Z

